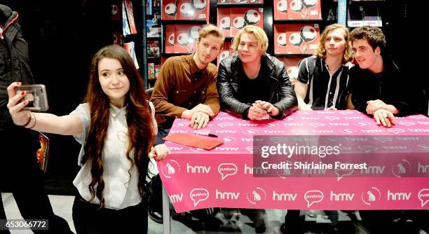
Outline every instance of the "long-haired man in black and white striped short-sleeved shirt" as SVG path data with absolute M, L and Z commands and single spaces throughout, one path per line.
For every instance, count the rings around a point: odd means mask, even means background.
M 315 55 L 300 62 L 294 87 L 299 110 L 346 109 L 348 69 L 353 66 L 349 38 L 343 25 L 328 25 Z

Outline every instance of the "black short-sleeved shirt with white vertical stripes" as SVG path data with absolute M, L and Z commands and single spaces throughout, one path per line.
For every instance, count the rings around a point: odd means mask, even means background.
M 348 69 L 353 64 L 343 64 L 332 76 L 325 60 L 316 57 L 306 57 L 299 63 L 297 80 L 306 83 L 307 94 L 304 102 L 313 110 L 346 109 L 348 95 Z

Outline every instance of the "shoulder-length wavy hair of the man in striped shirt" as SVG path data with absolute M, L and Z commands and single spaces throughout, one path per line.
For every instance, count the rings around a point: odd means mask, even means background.
M 335 29 L 343 29 L 343 32 L 344 32 L 343 36 L 344 36 L 344 39 L 346 40 L 346 50 L 344 50 L 343 63 L 350 62 L 351 60 L 353 60 L 353 53 L 351 50 L 352 46 L 350 42 L 350 32 L 348 31 L 347 27 L 339 24 L 332 24 L 325 27 L 325 30 L 323 30 L 322 32 L 322 35 L 320 35 L 320 41 L 318 43 L 318 47 L 315 50 L 315 55 L 317 57 L 326 58 L 326 49 L 325 49 L 326 37 L 329 32 Z

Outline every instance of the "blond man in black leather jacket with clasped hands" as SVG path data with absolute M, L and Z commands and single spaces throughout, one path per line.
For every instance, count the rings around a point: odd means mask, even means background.
M 284 64 L 266 53 L 264 30 L 247 25 L 234 37 L 232 48 L 236 53 L 222 60 L 217 75 L 222 109 L 250 120 L 267 113 L 282 118 L 297 109 Z

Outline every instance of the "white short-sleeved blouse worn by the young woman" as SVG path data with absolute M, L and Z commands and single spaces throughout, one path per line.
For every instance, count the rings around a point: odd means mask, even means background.
M 154 123 L 152 130 L 154 135 L 158 132 L 155 121 L 155 109 L 154 104 L 149 102 L 152 113 L 152 123 Z M 104 149 L 102 150 L 103 160 L 103 180 L 104 180 L 104 207 L 109 209 L 123 209 L 139 204 L 142 201 L 142 197 L 138 190 L 138 171 L 137 167 L 133 166 L 128 174 L 128 170 L 131 167 L 130 160 L 126 158 L 126 152 L 128 149 L 128 125 L 126 119 L 126 106 L 118 109 L 114 105 L 110 105 L 110 120 L 109 127 L 107 129 L 107 137 L 104 142 Z M 81 160 L 84 152 L 84 146 L 88 138 L 90 129 L 90 109 L 89 104 L 79 104 L 71 115 L 78 116 L 81 118 L 83 124 L 83 131 L 80 135 L 74 135 L 77 142 L 82 144 L 81 151 L 79 153 L 78 165 L 82 166 Z M 131 152 L 131 155 L 134 152 Z M 131 158 L 133 158 L 131 156 Z M 91 194 L 89 191 L 89 184 L 92 180 L 91 176 L 91 165 L 90 161 L 81 167 L 81 170 L 77 174 L 73 181 L 74 186 L 78 189 L 82 198 L 89 201 Z M 100 204 L 100 200 L 95 197 L 92 203 Z

